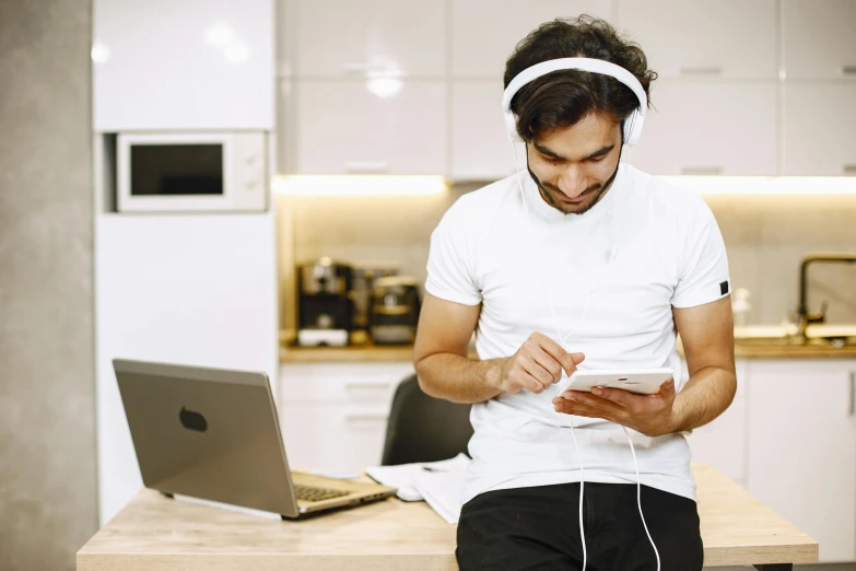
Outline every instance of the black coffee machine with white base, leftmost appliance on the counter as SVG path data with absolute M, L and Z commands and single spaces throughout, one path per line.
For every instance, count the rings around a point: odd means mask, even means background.
M 353 329 L 352 268 L 329 257 L 300 266 L 297 345 L 344 347 Z

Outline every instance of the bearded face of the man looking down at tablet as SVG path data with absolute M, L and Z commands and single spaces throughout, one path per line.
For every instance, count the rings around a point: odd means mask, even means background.
M 582 214 L 615 178 L 621 129 L 611 117 L 589 114 L 526 143 L 526 152 L 529 174 L 544 201 L 565 214 Z

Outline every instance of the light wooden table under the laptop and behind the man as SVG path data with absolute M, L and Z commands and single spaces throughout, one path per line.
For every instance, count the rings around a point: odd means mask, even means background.
M 818 544 L 707 465 L 694 465 L 705 567 L 783 571 Z M 425 503 L 280 522 L 143 490 L 78 552 L 79 571 L 455 570 L 455 526 Z

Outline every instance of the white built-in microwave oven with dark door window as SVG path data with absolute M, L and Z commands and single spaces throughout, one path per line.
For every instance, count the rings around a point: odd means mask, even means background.
M 267 210 L 266 143 L 265 131 L 118 133 L 117 210 Z

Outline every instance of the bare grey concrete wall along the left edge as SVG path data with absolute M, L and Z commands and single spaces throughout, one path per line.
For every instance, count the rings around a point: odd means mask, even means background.
M 0 0 L 0 569 L 95 533 L 90 0 Z

